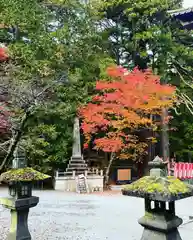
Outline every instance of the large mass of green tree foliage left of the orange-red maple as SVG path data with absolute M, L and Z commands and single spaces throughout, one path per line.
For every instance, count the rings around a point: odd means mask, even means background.
M 30 164 L 60 166 L 69 156 L 76 108 L 111 61 L 97 33 L 97 16 L 91 5 L 76 0 L 3 0 L 0 9 L 0 41 L 9 52 L 0 80 L 12 112 L 0 168 L 8 166 L 18 142 Z

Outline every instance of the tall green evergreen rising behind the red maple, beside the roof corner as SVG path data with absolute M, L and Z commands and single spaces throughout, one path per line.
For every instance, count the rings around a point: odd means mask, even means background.
M 179 105 L 185 104 L 192 114 L 193 37 L 168 13 L 181 5 L 182 1 L 173 0 L 101 1 L 102 36 L 118 64 L 131 69 L 151 67 L 163 83 L 175 85 Z M 176 111 L 182 109 L 173 111 L 174 118 Z M 167 111 L 163 112 L 164 117 Z M 167 132 L 168 126 L 163 124 L 163 142 L 167 148 L 163 152 L 167 152 L 166 155 L 169 154 Z

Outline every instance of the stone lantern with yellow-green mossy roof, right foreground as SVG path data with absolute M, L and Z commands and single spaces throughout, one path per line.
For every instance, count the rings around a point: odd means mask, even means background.
M 149 163 L 150 176 L 122 189 L 123 195 L 145 199 L 144 227 L 141 240 L 181 240 L 178 227 L 182 219 L 175 215 L 175 201 L 193 195 L 193 188 L 174 177 L 163 177 L 163 163 L 156 157 Z

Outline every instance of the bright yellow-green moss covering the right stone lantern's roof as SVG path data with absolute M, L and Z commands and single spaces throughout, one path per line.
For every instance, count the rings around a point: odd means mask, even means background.
M 142 192 L 142 193 L 160 193 L 164 195 L 177 195 L 192 191 L 192 187 L 174 177 L 143 177 L 136 182 L 125 185 L 123 190 Z

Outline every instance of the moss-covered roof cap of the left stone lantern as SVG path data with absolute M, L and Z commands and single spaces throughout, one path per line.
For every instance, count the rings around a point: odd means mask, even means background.
M 38 172 L 33 168 L 11 169 L 1 174 L 0 180 L 4 182 L 11 181 L 38 181 L 50 178 L 51 176 Z

